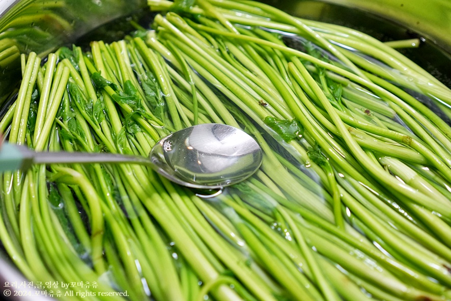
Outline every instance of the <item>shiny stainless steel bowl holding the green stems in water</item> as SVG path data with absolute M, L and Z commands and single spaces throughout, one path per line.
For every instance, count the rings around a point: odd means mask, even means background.
M 381 39 L 403 39 L 412 33 L 425 38 L 423 49 L 406 53 L 422 67 L 431 66 L 451 86 L 449 54 L 451 52 L 451 2 L 430 0 L 267 0 L 270 5 L 295 15 L 347 25 Z M 45 8 L 40 5 L 49 5 Z M 53 5 L 53 6 L 52 6 Z M 19 33 L 18 51 L 35 51 L 45 57 L 53 49 L 79 39 L 102 24 L 138 11 L 147 10 L 145 0 L 0 0 L 0 41 Z M 371 13 L 370 15 L 368 14 Z M 385 20 L 390 20 L 386 22 Z M 117 30 L 117 28 L 115 29 Z M 21 33 L 21 34 L 20 34 Z M 35 36 L 30 36 L 36 33 Z M 0 52 L 2 51 L 0 47 Z M 1 61 L 0 61 L 1 63 Z M 0 116 L 7 96 L 19 83 L 19 59 L 0 65 Z M 0 299 L 5 282 L 23 281 L 13 267 L 0 241 Z M 11 296 L 8 300 L 26 300 Z M 37 297 L 33 297 L 36 300 Z

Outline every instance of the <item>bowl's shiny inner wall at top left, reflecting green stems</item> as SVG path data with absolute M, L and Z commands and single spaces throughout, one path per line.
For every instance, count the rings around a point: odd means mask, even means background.
M 0 53 L 10 51 L 8 60 L 0 56 L 0 108 L 20 80 L 20 53 L 45 58 L 105 23 L 144 9 L 146 0 L 0 0 Z

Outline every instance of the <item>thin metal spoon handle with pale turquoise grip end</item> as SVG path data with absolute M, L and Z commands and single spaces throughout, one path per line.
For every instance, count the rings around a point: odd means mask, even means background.
M 32 164 L 64 164 L 64 163 L 136 163 L 151 165 L 145 157 L 109 153 L 82 152 L 35 152 L 25 146 L 4 143 L 0 150 L 0 172 L 27 170 Z

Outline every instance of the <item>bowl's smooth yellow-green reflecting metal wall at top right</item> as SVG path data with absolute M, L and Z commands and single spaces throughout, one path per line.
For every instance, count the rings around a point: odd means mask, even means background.
M 343 10 L 369 13 L 393 24 L 401 25 L 412 33 L 451 52 L 451 1 L 448 0 L 261 0 L 292 15 L 321 20 L 332 15 L 334 23 L 353 23 L 354 16 L 343 16 Z M 358 25 L 357 25 L 358 28 Z M 360 28 L 358 28 L 360 30 Z

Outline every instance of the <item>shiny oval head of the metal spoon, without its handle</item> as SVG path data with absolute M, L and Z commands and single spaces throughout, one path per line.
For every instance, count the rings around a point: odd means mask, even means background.
M 160 170 L 167 173 L 167 168 L 161 166 L 165 161 L 174 171 L 173 176 L 191 183 L 191 187 L 219 188 L 241 182 L 255 173 L 263 154 L 258 143 L 240 129 L 201 124 L 175 132 L 158 143 L 151 152 L 151 160 L 155 158 Z

